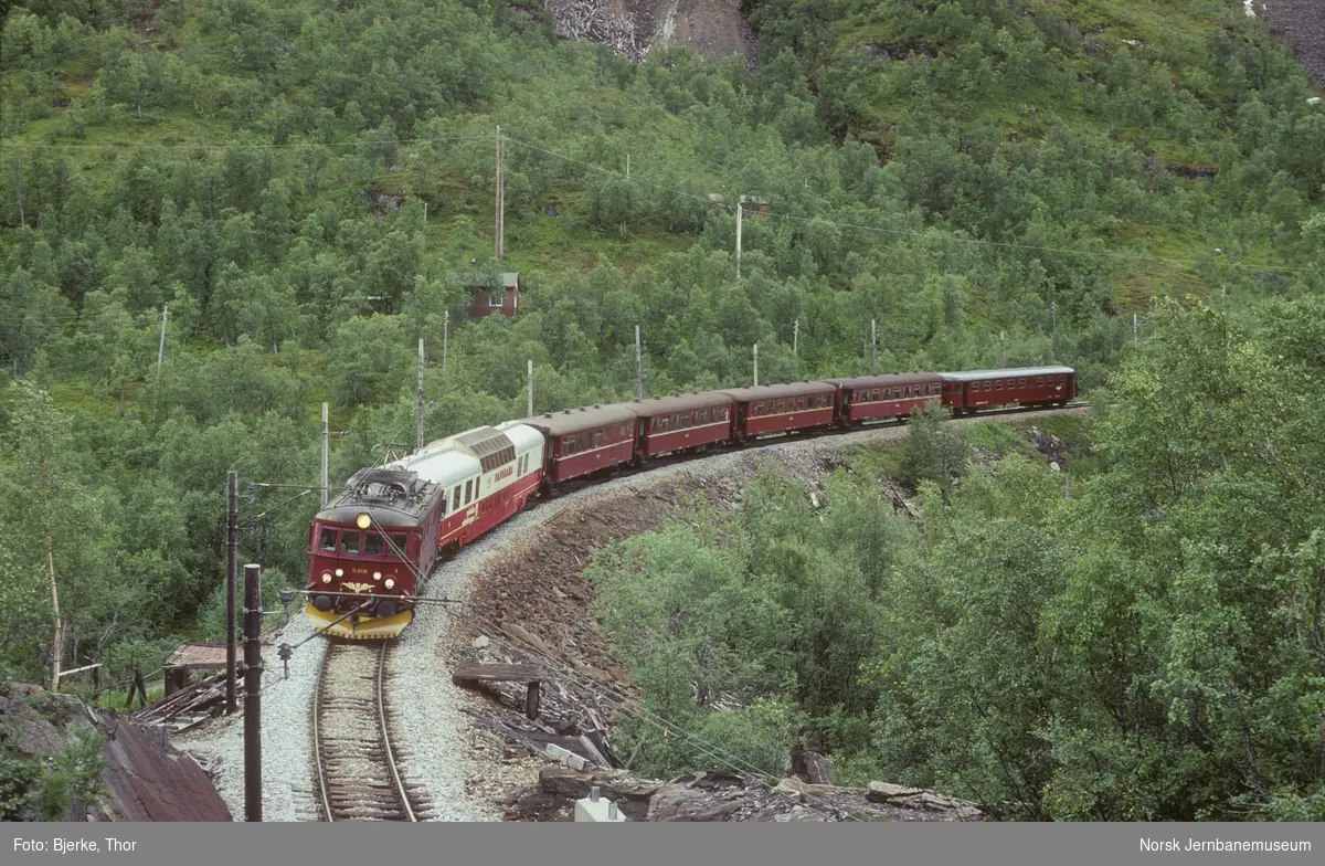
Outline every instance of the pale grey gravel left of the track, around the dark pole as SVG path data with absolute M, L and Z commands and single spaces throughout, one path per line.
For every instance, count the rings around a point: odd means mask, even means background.
M 262 820 L 315 821 L 313 797 L 313 683 L 325 643 L 313 639 L 290 658 L 290 678 L 276 656 L 281 643 L 294 645 L 313 634 L 302 610 L 264 650 L 262 662 Z M 242 646 L 241 646 L 242 651 Z M 242 680 L 240 694 L 242 695 Z M 175 745 L 211 765 L 213 781 L 236 821 L 244 820 L 244 712 L 186 732 Z

